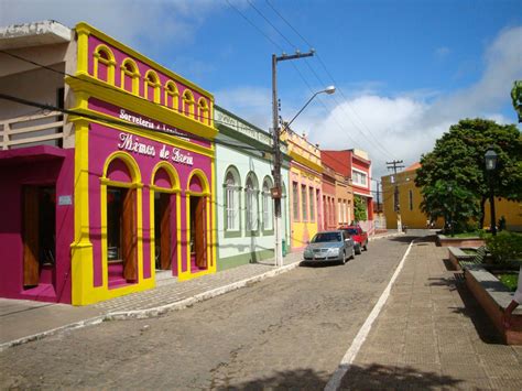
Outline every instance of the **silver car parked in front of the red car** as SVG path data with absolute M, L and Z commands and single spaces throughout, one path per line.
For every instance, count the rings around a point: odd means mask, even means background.
M 342 230 L 317 232 L 305 248 L 304 262 L 346 263 L 355 258 L 354 240 Z

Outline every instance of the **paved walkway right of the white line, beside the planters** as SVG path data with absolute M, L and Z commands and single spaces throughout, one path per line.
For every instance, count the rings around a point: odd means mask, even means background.
M 522 390 L 522 346 L 502 344 L 446 258 L 412 246 L 341 389 Z

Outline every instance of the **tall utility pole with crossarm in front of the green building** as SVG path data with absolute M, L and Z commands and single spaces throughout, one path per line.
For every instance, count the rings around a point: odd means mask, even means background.
M 281 225 L 281 197 L 282 197 L 282 182 L 281 182 L 281 146 L 280 135 L 281 129 L 279 127 L 279 107 L 278 107 L 278 62 L 296 59 L 313 56 L 315 51 L 311 50 L 308 53 L 300 53 L 278 57 L 272 54 L 272 135 L 273 135 L 273 177 L 274 187 L 272 188 L 272 198 L 274 200 L 274 236 L 275 236 L 275 265 L 283 265 L 283 246 L 282 246 L 282 225 Z M 294 117 L 295 118 L 295 117 Z

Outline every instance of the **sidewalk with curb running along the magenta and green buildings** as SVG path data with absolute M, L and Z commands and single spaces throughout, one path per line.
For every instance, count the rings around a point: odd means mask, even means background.
M 247 284 L 284 273 L 297 267 L 302 252 L 284 258 L 282 268 L 273 259 L 177 282 L 175 278 L 156 281 L 153 290 L 129 294 L 94 305 L 75 307 L 67 304 L 0 298 L 0 351 L 10 346 L 40 339 L 64 329 L 84 327 L 107 319 L 143 318 L 181 309 Z

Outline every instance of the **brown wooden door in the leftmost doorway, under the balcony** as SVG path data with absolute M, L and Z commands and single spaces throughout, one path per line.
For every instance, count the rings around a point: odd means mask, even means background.
M 39 188 L 23 188 L 23 285 L 36 286 L 40 282 Z M 53 227 L 54 228 L 54 227 Z

